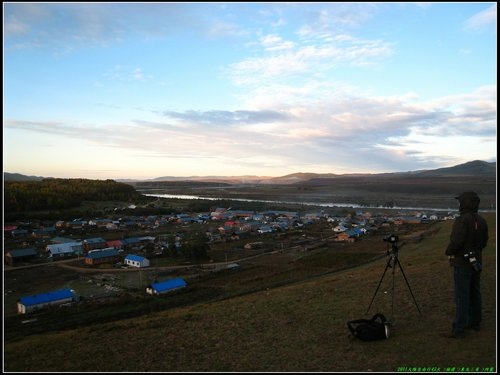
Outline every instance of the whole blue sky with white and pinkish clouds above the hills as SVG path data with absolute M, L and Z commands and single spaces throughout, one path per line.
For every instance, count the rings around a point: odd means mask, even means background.
M 496 162 L 496 2 L 3 11 L 4 172 L 278 177 Z

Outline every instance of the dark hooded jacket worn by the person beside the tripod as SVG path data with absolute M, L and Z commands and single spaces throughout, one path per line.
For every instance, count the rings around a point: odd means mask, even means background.
M 472 267 L 464 254 L 476 250 L 477 259 L 482 263 L 482 250 L 488 243 L 488 225 L 477 211 L 479 197 L 474 192 L 465 192 L 457 197 L 460 202 L 460 216 L 455 219 L 451 230 L 446 255 L 453 255 L 452 263 L 459 267 Z

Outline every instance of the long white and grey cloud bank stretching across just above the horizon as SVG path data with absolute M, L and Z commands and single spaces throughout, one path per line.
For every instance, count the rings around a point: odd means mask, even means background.
M 61 142 L 79 139 L 82 149 L 85 144 L 119 148 L 124 157 L 158 163 L 238 165 L 242 174 L 283 166 L 291 171 L 335 168 L 337 173 L 414 170 L 416 165 L 441 166 L 443 160 L 462 162 L 465 149 L 493 157 L 494 92 L 494 87 L 484 87 L 424 103 L 415 102 L 413 95 L 408 95 L 411 102 L 351 95 L 349 100 L 326 98 L 301 107 L 282 103 L 279 110 L 163 111 L 159 121 L 97 125 L 7 120 L 4 126 L 49 134 Z

